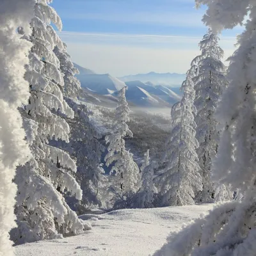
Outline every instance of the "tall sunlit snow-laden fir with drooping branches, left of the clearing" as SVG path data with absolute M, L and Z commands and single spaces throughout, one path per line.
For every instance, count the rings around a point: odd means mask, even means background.
M 33 44 L 25 78 L 29 82 L 28 105 L 20 109 L 33 158 L 17 169 L 18 228 L 13 230 L 15 243 L 53 239 L 63 235 L 80 234 L 84 225 L 71 211 L 61 193 L 70 191 L 81 200 L 82 191 L 74 179 L 76 163 L 67 152 L 49 145 L 50 140 L 68 141 L 70 131 L 63 116 L 74 117 L 74 112 L 63 99 L 63 74 L 54 47 L 63 44 L 51 26 L 61 29 L 61 19 L 49 6 L 51 1 L 36 1 L 35 17 L 30 22 L 32 33 L 23 34 Z

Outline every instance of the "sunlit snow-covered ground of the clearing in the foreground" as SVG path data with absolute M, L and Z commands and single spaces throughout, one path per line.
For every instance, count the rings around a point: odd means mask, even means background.
M 209 209 L 212 209 L 212 205 L 125 209 L 82 216 L 89 219 L 92 230 L 65 239 L 23 244 L 16 247 L 16 255 L 148 256 L 161 248 L 171 231 Z

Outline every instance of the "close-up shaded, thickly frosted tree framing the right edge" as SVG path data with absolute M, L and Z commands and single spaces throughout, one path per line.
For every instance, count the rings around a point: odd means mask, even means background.
M 234 28 L 246 15 L 245 31 L 230 58 L 228 80 L 217 109 L 217 120 L 225 125 L 213 168 L 214 180 L 239 189 L 243 200 L 218 205 L 179 234 L 172 234 L 155 255 L 255 255 L 256 206 L 256 97 L 255 97 L 255 1 L 197 0 L 207 4 L 204 22 L 214 31 Z M 223 138 L 223 139 L 222 139 Z

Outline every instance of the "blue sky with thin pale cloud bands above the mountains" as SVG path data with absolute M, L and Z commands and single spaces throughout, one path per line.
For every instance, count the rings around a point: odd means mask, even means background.
M 204 7 L 196 10 L 193 0 L 54 0 L 52 6 L 63 20 L 60 36 L 72 60 L 113 76 L 184 73 L 207 31 Z M 225 57 L 241 31 L 221 35 Z

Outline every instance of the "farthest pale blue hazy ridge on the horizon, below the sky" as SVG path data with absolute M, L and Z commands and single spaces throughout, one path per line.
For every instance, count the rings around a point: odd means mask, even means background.
M 156 73 L 150 72 L 148 74 L 129 75 L 118 77 L 121 81 L 141 81 L 142 83 L 150 82 L 152 84 L 162 84 L 168 87 L 179 87 L 186 79 L 186 74 L 177 73 Z

